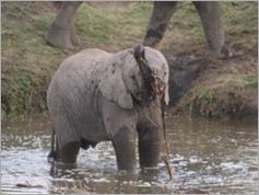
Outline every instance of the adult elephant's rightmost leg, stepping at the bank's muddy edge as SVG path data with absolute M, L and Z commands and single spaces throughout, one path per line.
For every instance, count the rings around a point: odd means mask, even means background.
M 200 15 L 211 56 L 219 57 L 223 54 L 225 57 L 232 57 L 233 53 L 224 44 L 224 30 L 221 23 L 219 2 L 193 1 L 193 4 Z

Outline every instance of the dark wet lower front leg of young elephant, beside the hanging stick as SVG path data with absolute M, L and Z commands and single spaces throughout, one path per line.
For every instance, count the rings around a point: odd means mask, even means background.
M 140 127 L 139 156 L 141 168 L 157 168 L 162 147 L 162 130 L 157 126 Z

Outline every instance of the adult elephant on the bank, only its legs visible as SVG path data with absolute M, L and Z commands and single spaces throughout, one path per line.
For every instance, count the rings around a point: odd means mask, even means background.
M 80 44 L 75 34 L 73 18 L 82 1 L 64 1 L 46 33 L 48 44 L 58 48 L 73 48 Z M 204 35 L 210 47 L 210 56 L 232 57 L 233 50 L 224 43 L 224 31 L 216 1 L 193 1 L 200 15 Z M 155 1 L 143 45 L 155 47 L 163 38 L 169 20 L 176 10 L 176 1 Z

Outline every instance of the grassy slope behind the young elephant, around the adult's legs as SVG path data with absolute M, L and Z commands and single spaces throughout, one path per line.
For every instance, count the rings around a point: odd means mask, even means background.
M 221 2 L 226 42 L 257 57 L 257 2 Z M 50 47 L 45 33 L 56 15 L 50 2 L 1 3 L 1 97 L 7 114 L 46 111 L 46 91 L 58 66 L 83 48 L 118 51 L 142 43 L 152 12 L 151 2 L 86 2 L 75 16 L 81 45 L 71 50 Z M 184 47 L 183 47 L 184 46 Z M 191 2 L 180 2 L 165 37 L 163 51 L 207 48 L 198 13 Z M 258 76 L 243 76 L 257 88 Z M 213 94 L 204 93 L 212 101 Z M 211 96 L 212 95 L 212 96 Z M 212 99 L 212 100 L 211 100 Z

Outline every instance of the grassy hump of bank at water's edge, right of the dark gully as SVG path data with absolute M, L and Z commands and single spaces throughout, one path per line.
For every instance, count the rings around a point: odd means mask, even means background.
M 209 76 L 210 77 L 210 76 Z M 208 77 L 208 78 L 209 78 Z M 224 73 L 197 82 L 195 88 L 180 101 L 177 112 L 205 118 L 238 117 L 242 110 L 249 107 L 248 99 L 257 101 L 257 73 Z M 257 107 L 251 107 L 257 110 Z

